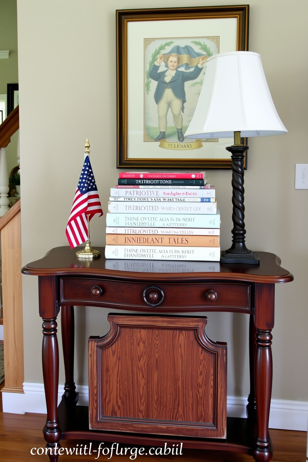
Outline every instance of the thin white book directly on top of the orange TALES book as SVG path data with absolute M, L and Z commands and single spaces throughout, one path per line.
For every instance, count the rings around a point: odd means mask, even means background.
M 107 226 L 106 234 L 165 234 L 177 236 L 220 236 L 219 228 L 128 228 Z

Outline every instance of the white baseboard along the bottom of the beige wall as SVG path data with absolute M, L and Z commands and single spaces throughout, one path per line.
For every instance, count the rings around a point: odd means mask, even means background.
M 89 391 L 85 385 L 76 385 L 80 406 L 89 405 Z M 63 394 L 63 385 L 59 385 L 58 403 Z M 26 412 L 46 413 L 44 386 L 42 383 L 24 383 L 24 393 L 2 393 L 3 412 L 24 414 Z M 247 398 L 243 396 L 227 397 L 227 415 L 246 417 Z M 308 402 L 272 400 L 270 428 L 307 431 Z

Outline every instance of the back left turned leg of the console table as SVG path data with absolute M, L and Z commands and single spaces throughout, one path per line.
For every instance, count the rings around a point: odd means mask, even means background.
M 74 382 L 74 307 L 61 307 L 61 334 L 65 370 L 65 384 L 63 397 L 73 402 L 78 401 L 76 385 Z

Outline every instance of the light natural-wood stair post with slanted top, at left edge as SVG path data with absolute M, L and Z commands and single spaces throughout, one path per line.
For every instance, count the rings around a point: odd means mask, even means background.
M 24 342 L 20 212 L 1 230 L 5 387 L 23 393 Z

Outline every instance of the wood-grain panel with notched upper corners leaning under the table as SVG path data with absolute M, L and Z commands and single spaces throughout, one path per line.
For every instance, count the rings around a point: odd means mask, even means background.
M 226 438 L 226 344 L 206 318 L 109 315 L 89 340 L 90 428 Z

